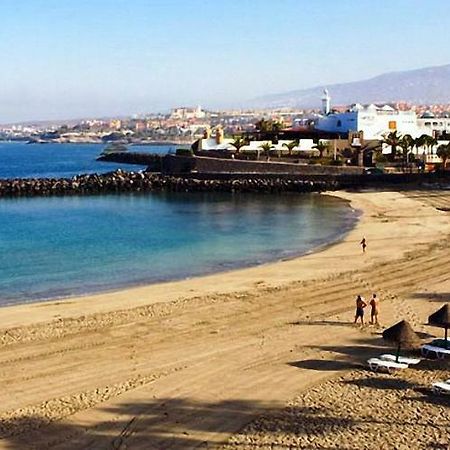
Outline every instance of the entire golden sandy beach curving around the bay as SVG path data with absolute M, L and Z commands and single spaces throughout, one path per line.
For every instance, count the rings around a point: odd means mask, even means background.
M 450 192 L 334 195 L 363 214 L 322 251 L 2 308 L 0 448 L 446 448 L 450 405 L 429 387 L 448 362 L 364 362 L 401 319 L 443 335 L 425 322 L 450 300 Z M 381 326 L 353 325 L 372 292 Z

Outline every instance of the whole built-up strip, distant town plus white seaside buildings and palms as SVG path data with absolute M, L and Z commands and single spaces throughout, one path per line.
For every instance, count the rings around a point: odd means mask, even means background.
M 320 109 L 197 106 L 167 114 L 12 124 L 0 127 L 0 139 L 105 144 L 104 151 L 114 153 L 129 145 L 173 144 L 219 158 L 260 160 L 262 154 L 280 162 L 306 158 L 310 164 L 365 167 L 397 162 L 401 170 L 432 171 L 450 160 L 450 104 L 334 106 L 327 89 L 320 100 Z

